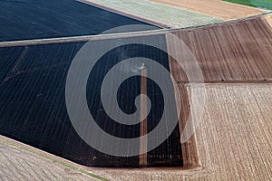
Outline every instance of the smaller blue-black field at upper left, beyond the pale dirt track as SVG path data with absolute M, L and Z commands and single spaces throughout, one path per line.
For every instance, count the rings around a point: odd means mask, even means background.
M 0 41 L 92 35 L 128 24 L 145 23 L 75 0 L 0 1 Z

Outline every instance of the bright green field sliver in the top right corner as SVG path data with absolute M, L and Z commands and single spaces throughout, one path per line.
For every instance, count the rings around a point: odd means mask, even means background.
M 272 10 L 272 0 L 223 0 L 223 1 Z

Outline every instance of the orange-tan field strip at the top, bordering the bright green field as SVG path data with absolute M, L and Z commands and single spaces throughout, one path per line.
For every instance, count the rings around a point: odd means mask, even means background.
M 219 0 L 151 0 L 164 5 L 170 5 L 191 12 L 206 14 L 226 20 L 244 18 L 264 13 L 263 10 L 236 5 Z

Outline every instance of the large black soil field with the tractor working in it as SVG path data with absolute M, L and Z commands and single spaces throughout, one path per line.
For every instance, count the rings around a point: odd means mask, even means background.
M 153 41 L 165 43 L 165 37 L 155 35 Z M 65 104 L 65 80 L 69 65 L 83 44 L 0 48 L 0 134 L 86 166 L 139 167 L 139 157 L 111 157 L 102 154 L 83 142 L 73 129 Z M 165 52 L 137 44 L 113 49 L 95 64 L 87 85 L 89 110 L 104 131 L 120 138 L 140 137 L 140 124 L 124 126 L 110 119 L 102 108 L 100 90 L 102 79 L 112 66 L 130 57 L 157 60 L 169 70 L 168 55 Z M 161 79 L 170 81 L 170 77 Z M 108 88 L 111 89 L 111 86 Z M 141 77 L 124 81 L 117 96 L 121 110 L 134 112 L 134 100 L 140 93 Z M 174 96 L 173 90 L 169 90 L 169 93 Z M 147 130 L 151 131 L 160 121 L 163 96 L 160 88 L 151 80 L 147 80 L 147 95 L 152 103 L 147 118 Z M 175 115 L 175 112 L 170 113 L 168 119 L 177 119 Z M 102 141 L 99 135 L 97 141 Z M 170 138 L 148 153 L 147 159 L 147 166 L 182 166 L 178 125 Z

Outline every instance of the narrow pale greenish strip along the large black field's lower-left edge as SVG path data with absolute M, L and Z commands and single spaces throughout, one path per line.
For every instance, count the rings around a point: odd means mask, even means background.
M 92 173 L 90 173 L 90 172 L 88 172 L 88 171 L 86 171 L 86 170 L 84 170 L 84 169 L 82 169 L 82 168 L 75 167 L 75 166 L 73 166 L 72 164 L 69 164 L 69 163 L 64 162 L 64 161 L 62 161 L 62 160 L 59 160 L 59 159 L 50 157 L 50 156 L 48 156 L 48 155 L 46 155 L 46 154 L 43 154 L 43 153 L 40 153 L 40 152 L 38 152 L 38 151 L 34 151 L 32 148 L 27 148 L 27 147 L 24 147 L 23 145 L 13 143 L 13 142 L 8 141 L 8 140 L 0 140 L 0 142 L 5 143 L 6 145 L 9 145 L 9 146 L 13 146 L 13 147 L 15 147 L 15 148 L 19 148 L 19 149 L 21 149 L 21 150 L 30 152 L 30 153 L 32 153 L 32 154 L 34 154 L 34 155 L 39 156 L 39 157 L 44 157 L 45 159 L 49 159 L 49 160 L 53 161 L 53 163 L 59 164 L 59 165 L 61 165 L 61 166 L 63 166 L 63 167 L 70 168 L 70 169 L 72 169 L 73 171 L 78 171 L 78 172 L 80 172 L 80 173 L 82 173 L 82 174 L 84 174 L 84 175 L 92 176 L 93 178 L 96 178 L 96 179 L 101 180 L 101 181 L 108 181 L 108 179 L 106 179 L 106 178 L 104 178 L 104 177 L 102 177 L 102 176 L 98 176 L 98 175 L 92 174 Z

